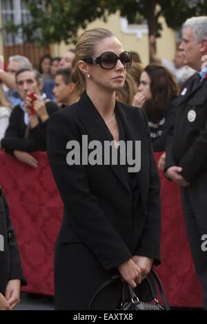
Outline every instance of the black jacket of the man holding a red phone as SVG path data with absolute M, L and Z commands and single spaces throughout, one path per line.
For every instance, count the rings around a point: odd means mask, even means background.
M 46 109 L 50 116 L 58 110 L 56 103 L 46 102 Z M 24 112 L 19 105 L 12 110 L 10 122 L 4 138 L 1 140 L 1 148 L 11 153 L 14 150 L 23 152 L 35 152 L 46 150 L 46 134 L 48 121 L 30 128 L 28 137 L 25 138 L 26 124 L 24 123 Z

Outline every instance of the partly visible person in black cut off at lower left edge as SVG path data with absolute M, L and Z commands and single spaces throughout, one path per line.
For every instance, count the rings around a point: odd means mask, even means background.
M 20 286 L 26 285 L 8 204 L 0 186 L 0 310 L 19 303 Z

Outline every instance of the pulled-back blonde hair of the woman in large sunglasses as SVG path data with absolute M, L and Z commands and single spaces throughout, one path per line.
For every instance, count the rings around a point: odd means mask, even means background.
M 94 56 L 97 43 L 107 37 L 115 36 L 105 28 L 92 28 L 81 34 L 75 48 L 75 59 L 72 61 L 72 79 L 76 83 L 77 90 L 83 92 L 86 88 L 86 79 L 79 70 L 77 64 L 80 60 Z

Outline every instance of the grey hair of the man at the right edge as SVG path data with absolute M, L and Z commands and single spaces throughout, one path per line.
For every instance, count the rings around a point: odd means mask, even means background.
M 184 23 L 183 28 L 191 28 L 193 37 L 197 43 L 200 43 L 204 39 L 207 40 L 207 16 L 189 18 Z

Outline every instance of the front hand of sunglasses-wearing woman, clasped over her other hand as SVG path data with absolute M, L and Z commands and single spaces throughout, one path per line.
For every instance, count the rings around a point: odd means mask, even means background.
M 117 268 L 122 279 L 129 283 L 132 288 L 137 287 L 137 283 L 141 283 L 141 270 L 132 259 L 122 263 Z

